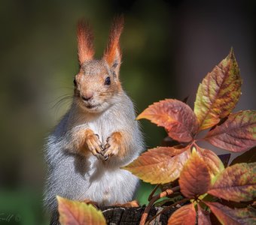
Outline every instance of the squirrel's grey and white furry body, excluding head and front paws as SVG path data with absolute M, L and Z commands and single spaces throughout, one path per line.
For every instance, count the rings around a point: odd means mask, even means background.
M 45 148 L 48 171 L 44 205 L 53 214 L 52 224 L 58 223 L 56 195 L 81 201 L 92 199 L 99 205 L 133 199 L 139 179 L 120 166 L 136 159 L 144 148 L 142 132 L 135 118 L 133 103 L 123 91 L 111 98 L 111 104 L 102 113 L 84 113 L 74 101 L 47 138 Z M 79 154 L 73 145 L 74 133 L 87 127 L 99 135 L 102 143 L 114 131 L 130 133 L 126 156 L 122 160 L 111 157 L 103 162 L 93 154 L 90 157 Z

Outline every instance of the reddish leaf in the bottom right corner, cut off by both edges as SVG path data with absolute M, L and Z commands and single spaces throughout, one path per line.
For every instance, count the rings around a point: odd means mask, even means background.
M 239 225 L 239 224 L 255 224 L 256 212 L 249 208 L 229 208 L 218 202 L 204 202 L 209 206 L 221 224 Z

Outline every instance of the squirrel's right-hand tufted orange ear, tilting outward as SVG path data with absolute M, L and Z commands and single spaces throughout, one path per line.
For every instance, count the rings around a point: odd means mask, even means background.
M 123 16 L 116 17 L 111 26 L 108 46 L 105 49 L 103 58 L 108 63 L 111 71 L 118 76 L 122 53 L 120 52 L 119 39 L 123 31 Z

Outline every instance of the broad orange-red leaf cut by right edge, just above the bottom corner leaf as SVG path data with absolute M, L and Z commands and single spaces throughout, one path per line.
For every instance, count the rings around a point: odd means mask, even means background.
M 256 196 L 256 163 L 237 163 L 224 169 L 208 193 L 233 202 L 250 201 Z

